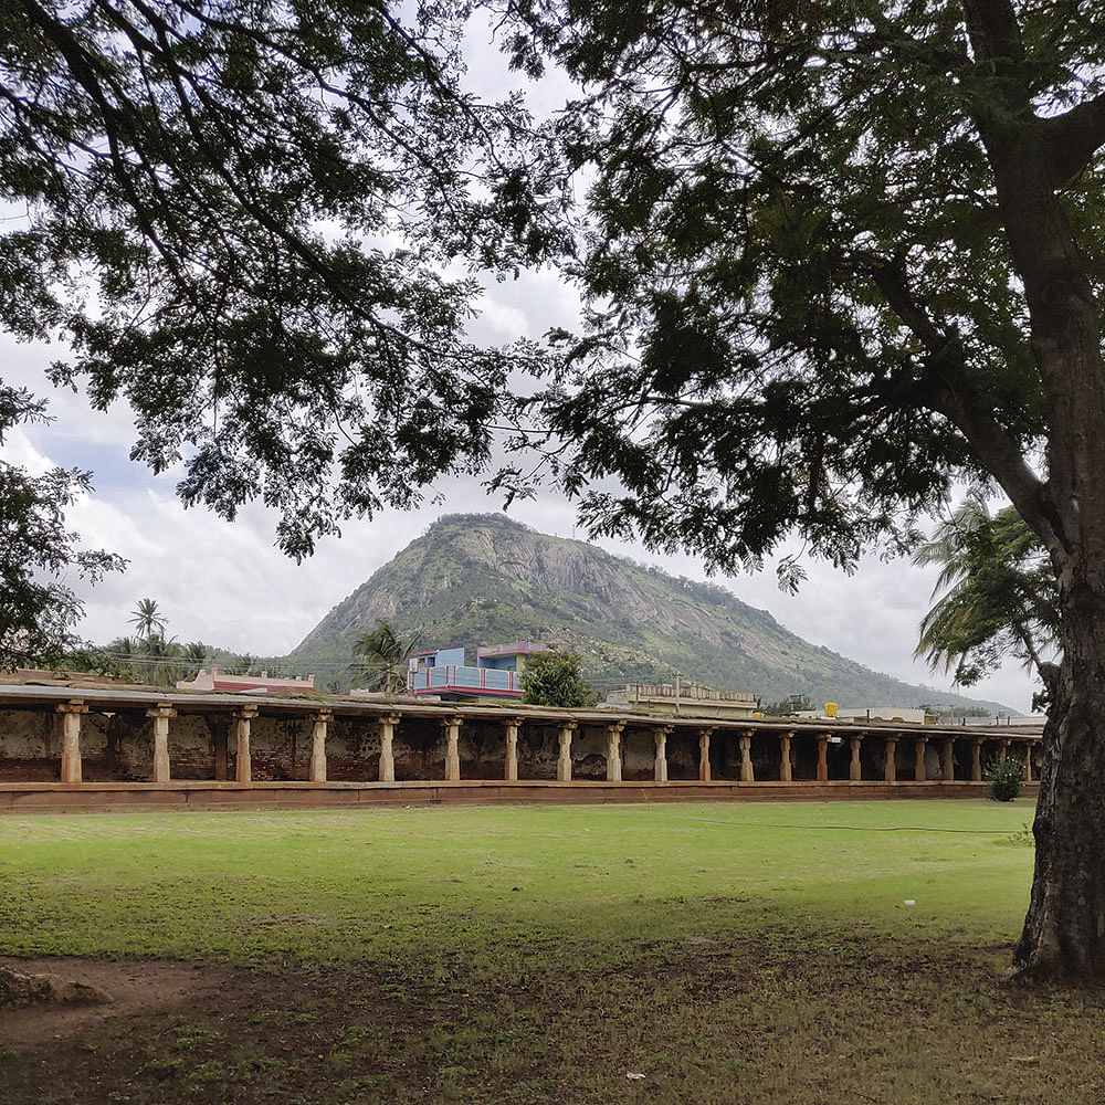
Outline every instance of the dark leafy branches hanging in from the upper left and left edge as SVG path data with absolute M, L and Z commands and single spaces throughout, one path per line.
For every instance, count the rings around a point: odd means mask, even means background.
M 443 273 L 457 256 L 511 269 L 545 250 L 551 221 L 519 223 L 545 170 L 517 105 L 460 88 L 465 6 L 420 7 L 0 13 L 0 191 L 18 212 L 0 230 L 0 326 L 64 339 L 54 381 L 83 382 L 96 409 L 126 398 L 133 459 L 182 460 L 181 498 L 228 518 L 262 498 L 297 558 L 343 518 L 477 467 L 507 368 L 525 360 L 465 339 L 477 284 Z M 3 475 L 3 505 L 21 512 L 6 515 L 13 564 L 59 579 L 108 566 L 23 535 L 53 525 L 85 475 Z M 48 652 L 78 611 L 61 582 L 11 593 L 13 657 Z

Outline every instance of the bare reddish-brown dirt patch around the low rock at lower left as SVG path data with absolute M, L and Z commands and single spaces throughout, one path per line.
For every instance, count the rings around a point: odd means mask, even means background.
M 35 1048 L 73 1036 L 113 1018 L 135 1013 L 165 1013 L 186 1008 L 227 986 L 220 967 L 150 962 L 140 959 L 0 959 L 0 965 L 27 975 L 56 975 L 66 981 L 95 987 L 107 994 L 103 1003 L 35 1003 L 0 1009 L 0 1044 L 4 1049 Z

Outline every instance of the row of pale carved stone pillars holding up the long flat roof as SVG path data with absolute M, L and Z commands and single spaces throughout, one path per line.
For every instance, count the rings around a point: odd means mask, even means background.
M 80 699 L 62 703 L 57 707 L 57 713 L 62 715 L 62 782 L 81 782 L 81 719 L 88 712 L 88 707 Z M 169 782 L 171 780 L 171 768 L 169 762 L 169 722 L 177 716 L 177 711 L 169 703 L 159 703 L 146 711 L 154 726 L 154 781 Z M 252 781 L 252 764 L 250 756 L 250 729 L 253 718 L 257 716 L 257 706 L 249 703 L 238 707 L 233 712 L 235 726 L 235 772 L 238 782 Z M 315 711 L 308 715 L 313 723 L 311 744 L 311 766 L 308 779 L 311 782 L 326 782 L 326 737 L 329 723 L 334 718 L 330 709 Z M 377 718 L 380 728 L 380 782 L 394 782 L 396 759 L 394 759 L 394 733 L 399 725 L 401 715 L 389 714 Z M 460 715 L 446 717 L 442 720 L 445 735 L 445 781 L 457 782 L 461 778 L 460 758 L 460 733 L 464 724 L 464 718 Z M 520 717 L 503 718 L 502 725 L 505 729 L 505 767 L 503 777 L 507 781 L 517 781 L 518 778 L 518 732 L 522 727 Z M 625 722 L 613 722 L 603 726 L 607 736 L 607 780 L 609 782 L 622 781 L 622 733 L 625 729 Z M 579 725 L 577 722 L 565 722 L 559 727 L 559 754 L 557 757 L 557 780 L 559 782 L 571 781 L 571 743 Z M 674 729 L 672 725 L 657 725 L 653 728 L 655 738 L 655 780 L 656 782 L 667 781 L 667 737 Z M 711 781 L 709 768 L 709 741 L 711 736 L 716 730 L 716 726 L 703 727 L 698 730 L 698 779 L 702 782 Z M 738 735 L 740 748 L 740 781 L 755 782 L 756 772 L 753 766 L 751 740 L 756 735 L 755 729 L 746 729 Z M 791 764 L 791 739 L 793 730 L 777 734 L 779 740 L 779 781 L 791 782 L 793 779 L 793 767 Z M 851 759 L 849 762 L 849 779 L 852 782 L 862 780 L 862 768 L 860 764 L 860 749 L 865 733 L 849 736 L 846 739 L 851 746 Z M 896 753 L 898 734 L 878 734 L 878 738 L 884 741 L 885 766 L 883 770 L 884 782 L 897 781 Z M 927 768 L 925 765 L 925 750 L 928 745 L 928 736 L 920 734 L 911 735 L 914 741 L 914 779 L 923 782 L 927 780 Z M 829 781 L 829 744 L 834 739 L 831 733 L 817 734 L 817 781 Z M 842 741 L 844 737 L 835 737 Z M 953 764 L 953 746 L 957 737 L 935 738 L 940 741 L 940 779 L 950 782 L 955 778 Z M 971 754 L 971 780 L 980 782 L 982 779 L 982 745 L 986 740 L 1000 740 L 1002 755 L 1009 755 L 1012 745 L 1011 738 L 994 738 L 992 736 L 975 736 L 972 739 Z M 1023 753 L 1024 778 L 1032 780 L 1032 744 L 1024 741 Z

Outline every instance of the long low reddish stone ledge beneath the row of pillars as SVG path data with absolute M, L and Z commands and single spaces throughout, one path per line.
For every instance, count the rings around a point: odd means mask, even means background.
M 1022 790 L 1028 798 L 1039 785 Z M 460 782 L 8 782 L 0 813 L 148 809 L 335 809 L 367 806 L 483 806 L 511 802 L 589 804 L 685 801 L 833 801 L 985 798 L 979 782 L 557 782 L 523 779 Z

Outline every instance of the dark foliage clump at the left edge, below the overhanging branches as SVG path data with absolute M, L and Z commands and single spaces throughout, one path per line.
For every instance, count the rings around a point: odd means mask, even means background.
M 0 445 L 20 422 L 45 409 L 22 389 L 0 381 Z M 0 669 L 61 663 L 78 645 L 73 627 L 83 604 L 66 571 L 93 581 L 124 561 L 81 547 L 65 526 L 65 509 L 91 486 L 87 472 L 53 469 L 32 476 L 0 461 Z

